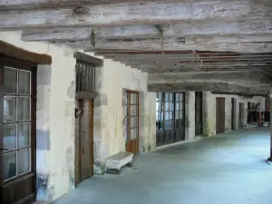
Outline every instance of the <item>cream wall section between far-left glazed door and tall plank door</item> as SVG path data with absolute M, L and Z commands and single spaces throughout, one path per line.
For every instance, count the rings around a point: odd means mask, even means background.
M 21 32 L 0 32 L 0 40 L 52 56 L 37 68 L 37 199 L 54 200 L 74 188 L 73 50 L 45 43 L 25 43 Z

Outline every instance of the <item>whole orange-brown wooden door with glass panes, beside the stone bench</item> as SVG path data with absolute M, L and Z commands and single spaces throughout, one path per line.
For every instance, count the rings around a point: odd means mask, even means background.
M 139 152 L 139 92 L 126 91 L 126 151 Z

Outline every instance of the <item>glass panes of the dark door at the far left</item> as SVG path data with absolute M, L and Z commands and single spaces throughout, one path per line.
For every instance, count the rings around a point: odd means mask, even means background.
M 31 171 L 31 77 L 4 67 L 4 181 Z

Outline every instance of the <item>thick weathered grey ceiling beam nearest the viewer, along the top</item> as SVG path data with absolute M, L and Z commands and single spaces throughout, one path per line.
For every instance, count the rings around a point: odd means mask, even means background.
M 0 28 L 170 24 L 178 21 L 210 20 L 269 21 L 271 17 L 272 5 L 267 0 L 93 5 L 69 9 L 1 12 Z

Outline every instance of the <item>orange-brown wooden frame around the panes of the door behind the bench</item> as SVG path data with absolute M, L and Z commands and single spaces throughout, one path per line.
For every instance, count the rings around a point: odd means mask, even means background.
M 127 129 L 127 137 L 126 137 L 126 142 L 125 142 L 125 147 L 126 147 L 126 151 L 131 151 L 132 152 L 132 148 L 131 148 L 131 143 L 132 141 L 135 141 L 136 142 L 136 147 L 137 150 L 136 152 L 133 152 L 133 153 L 139 153 L 140 151 L 140 92 L 137 92 L 137 91 L 131 91 L 131 90 L 125 90 L 126 92 L 126 95 L 128 96 L 127 98 L 127 104 L 126 104 L 126 108 L 127 108 L 127 127 L 125 127 Z M 138 105 L 138 108 L 137 108 L 137 122 L 138 122 L 138 127 L 137 127 L 137 132 L 138 132 L 138 138 L 137 139 L 134 139 L 134 140 L 131 140 L 131 93 L 134 93 L 134 94 L 138 94 L 138 97 L 137 97 L 137 105 Z M 130 131 L 129 131 L 130 130 Z M 128 139 L 128 140 L 127 140 Z

